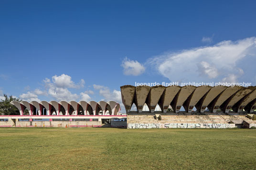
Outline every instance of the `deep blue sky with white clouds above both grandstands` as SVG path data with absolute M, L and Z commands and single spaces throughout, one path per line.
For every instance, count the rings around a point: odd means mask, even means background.
M 0 0 L 0 98 L 117 100 L 135 82 L 256 85 L 255 0 Z

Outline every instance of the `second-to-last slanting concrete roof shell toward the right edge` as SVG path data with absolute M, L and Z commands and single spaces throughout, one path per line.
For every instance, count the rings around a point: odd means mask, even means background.
M 242 88 L 241 90 L 238 90 L 232 97 L 230 97 L 220 106 L 220 109 L 225 113 L 228 113 L 229 110 L 235 105 L 236 102 L 241 100 L 250 92 L 252 92 L 252 90 L 249 88 Z

